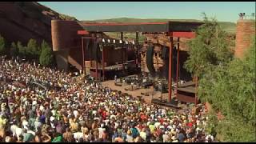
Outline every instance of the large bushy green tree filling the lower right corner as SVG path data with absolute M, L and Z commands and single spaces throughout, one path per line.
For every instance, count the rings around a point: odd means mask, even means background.
M 200 80 L 199 95 L 224 118 L 214 129 L 225 142 L 256 142 L 255 38 L 245 58 L 234 58 Z M 210 122 L 213 119 L 210 120 Z

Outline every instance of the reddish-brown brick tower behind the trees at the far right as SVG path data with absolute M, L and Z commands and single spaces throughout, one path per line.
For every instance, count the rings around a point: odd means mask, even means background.
M 243 57 L 246 50 L 250 48 L 253 34 L 255 34 L 255 20 L 239 19 L 237 22 L 237 34 L 235 40 L 235 57 Z

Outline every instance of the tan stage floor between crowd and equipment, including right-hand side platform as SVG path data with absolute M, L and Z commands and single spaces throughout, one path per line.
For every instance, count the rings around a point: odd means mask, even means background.
M 168 102 L 168 93 L 162 94 L 162 101 L 161 101 L 161 92 L 160 91 L 154 91 L 153 86 L 150 86 L 147 89 L 141 88 L 141 89 L 135 89 L 134 90 L 128 90 L 131 89 L 130 85 L 122 85 L 122 86 L 116 86 L 114 84 L 114 80 L 102 82 L 102 86 L 110 87 L 112 90 L 118 90 L 122 93 L 126 93 L 131 95 L 134 98 L 142 98 L 144 102 L 149 104 L 157 104 L 159 106 L 168 106 L 173 107 L 175 109 L 179 108 L 185 108 L 190 103 L 195 102 L 195 87 L 194 82 L 186 82 L 180 86 L 178 86 L 178 89 L 174 88 L 172 90 L 172 102 Z M 176 95 L 176 91 L 178 92 L 178 96 Z M 146 93 L 148 94 L 146 96 Z M 175 100 L 174 100 L 175 99 Z M 163 102 L 165 101 L 165 102 Z M 181 103 L 185 102 L 185 103 Z M 176 103 L 174 105 L 174 103 Z M 198 103 L 198 102 L 197 102 Z

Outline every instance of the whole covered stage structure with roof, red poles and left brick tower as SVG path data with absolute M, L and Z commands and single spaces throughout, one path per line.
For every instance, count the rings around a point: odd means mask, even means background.
M 66 23 L 70 28 L 66 27 Z M 59 66 L 61 63 L 71 63 L 83 74 L 89 73 L 100 81 L 118 70 L 122 74 L 132 70 L 146 72 L 152 77 L 160 71 L 160 75 L 168 82 L 168 102 L 172 101 L 172 90 L 176 90 L 178 101 L 197 104 L 195 90 L 198 78 L 179 86 L 180 59 L 184 57 L 180 40 L 195 38 L 194 30 L 201 25 L 202 22 L 98 23 L 54 20 L 52 39 Z M 121 37 L 110 38 L 105 32 L 120 33 Z M 124 39 L 123 34 L 126 32 L 136 34 L 133 42 Z M 147 38 L 154 35 L 154 38 L 140 46 L 139 33 L 145 34 Z M 155 38 L 156 35 L 164 37 L 164 42 L 154 42 L 155 39 L 161 39 Z M 155 59 L 160 59 L 160 64 L 156 64 Z

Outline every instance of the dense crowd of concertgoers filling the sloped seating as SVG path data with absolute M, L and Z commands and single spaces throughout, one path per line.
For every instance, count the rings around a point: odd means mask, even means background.
M 205 109 L 147 104 L 89 78 L 4 57 L 0 84 L 0 142 L 214 142 Z

